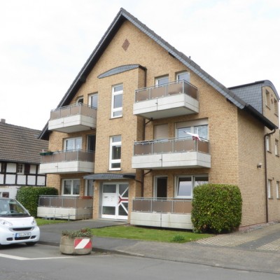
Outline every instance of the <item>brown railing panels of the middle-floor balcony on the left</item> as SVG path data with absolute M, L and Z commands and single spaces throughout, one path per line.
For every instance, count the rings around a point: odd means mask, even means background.
M 41 164 L 54 162 L 94 162 L 95 153 L 92 151 L 71 150 L 41 153 Z

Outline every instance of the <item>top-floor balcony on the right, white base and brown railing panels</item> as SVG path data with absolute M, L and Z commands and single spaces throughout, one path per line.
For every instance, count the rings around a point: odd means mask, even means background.
M 197 87 L 185 80 L 135 92 L 134 115 L 158 119 L 193 113 L 199 113 Z

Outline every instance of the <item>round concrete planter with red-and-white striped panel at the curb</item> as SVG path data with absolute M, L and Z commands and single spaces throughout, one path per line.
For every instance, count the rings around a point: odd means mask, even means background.
M 92 232 L 90 228 L 63 230 L 59 251 L 66 255 L 87 255 L 92 252 Z

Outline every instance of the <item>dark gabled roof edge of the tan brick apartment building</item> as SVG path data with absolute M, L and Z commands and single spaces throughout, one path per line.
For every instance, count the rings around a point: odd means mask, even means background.
M 71 86 L 69 87 L 69 90 L 66 92 L 64 97 L 62 98 L 61 102 L 59 102 L 58 107 L 66 106 L 69 104 L 73 96 L 76 94 L 78 88 L 80 85 L 85 83 L 86 77 L 88 73 L 92 70 L 94 65 L 99 60 L 99 57 L 101 57 L 102 53 L 106 49 L 106 47 L 111 42 L 111 39 L 115 34 L 117 33 L 120 26 L 125 22 L 125 20 L 129 20 L 135 27 L 139 28 L 141 31 L 144 32 L 147 36 L 149 36 L 151 39 L 153 39 L 156 43 L 162 46 L 167 52 L 169 52 L 170 55 L 176 57 L 176 59 L 179 59 L 180 62 L 182 62 L 184 65 L 188 67 L 188 69 L 192 70 L 194 73 L 197 74 L 197 76 L 200 76 L 204 81 L 209 83 L 212 87 L 214 87 L 218 92 L 223 94 L 223 96 L 228 99 L 230 102 L 235 104 L 239 109 L 246 109 L 247 111 L 250 111 L 254 116 L 258 115 L 258 118 L 264 123 L 265 126 L 267 126 L 270 130 L 273 130 L 276 126 L 267 120 L 264 116 L 259 116 L 259 112 L 255 111 L 255 109 L 244 102 L 237 94 L 232 92 L 232 90 L 228 89 L 224 85 L 218 82 L 218 80 L 214 79 L 212 76 L 209 75 L 209 73 L 205 72 L 203 69 L 200 68 L 199 65 L 197 65 L 193 60 L 191 60 L 189 57 L 184 55 L 182 52 L 179 52 L 179 50 L 176 50 L 172 45 L 170 45 L 167 41 L 162 39 L 160 36 L 155 34 L 155 32 L 146 25 L 144 25 L 142 22 L 140 22 L 137 18 L 134 18 L 133 15 L 127 12 L 127 10 L 120 8 L 120 11 L 116 15 L 116 18 L 113 20 L 111 25 L 109 26 L 109 29 L 107 29 L 106 33 L 102 37 L 102 39 L 99 41 L 97 47 L 94 49 L 90 57 L 87 59 L 87 62 L 85 62 L 85 65 L 78 73 L 78 76 L 73 81 Z M 251 111 L 253 110 L 253 111 Z M 40 138 L 45 139 L 48 137 L 48 123 L 43 128 L 43 131 L 41 132 Z

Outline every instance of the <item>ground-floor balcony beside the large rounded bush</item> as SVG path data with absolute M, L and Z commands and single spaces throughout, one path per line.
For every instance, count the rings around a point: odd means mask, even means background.
M 191 200 L 135 197 L 132 201 L 130 224 L 192 230 L 191 210 Z

